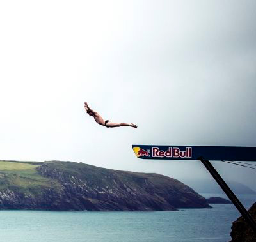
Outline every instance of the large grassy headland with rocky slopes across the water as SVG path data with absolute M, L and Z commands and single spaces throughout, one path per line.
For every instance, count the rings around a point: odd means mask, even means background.
M 211 208 L 180 181 L 76 162 L 0 161 L 0 209 L 175 211 Z

